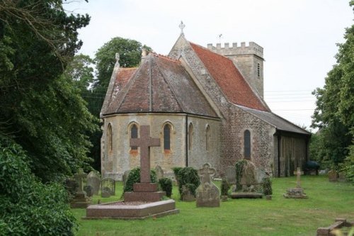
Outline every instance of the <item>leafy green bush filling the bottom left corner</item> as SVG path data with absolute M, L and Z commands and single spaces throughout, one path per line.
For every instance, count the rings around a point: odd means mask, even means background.
M 0 235 L 74 235 L 64 186 L 42 184 L 21 146 L 3 137 L 0 170 Z

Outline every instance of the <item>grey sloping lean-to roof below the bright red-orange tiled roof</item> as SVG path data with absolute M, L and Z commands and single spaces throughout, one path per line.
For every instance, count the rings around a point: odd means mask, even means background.
M 300 128 L 299 126 L 291 123 L 289 120 L 285 120 L 275 113 L 266 112 L 266 111 L 258 111 L 250 108 L 240 107 L 244 111 L 247 111 L 254 116 L 260 118 L 261 120 L 273 125 L 277 130 L 286 131 L 290 133 L 299 133 L 302 135 L 311 135 L 307 130 Z

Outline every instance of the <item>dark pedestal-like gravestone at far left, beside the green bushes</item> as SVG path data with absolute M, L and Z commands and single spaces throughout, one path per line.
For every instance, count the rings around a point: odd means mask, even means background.
M 70 203 L 71 208 L 86 208 L 90 205 L 91 200 L 86 196 L 84 191 L 83 181 L 86 179 L 87 174 L 84 173 L 83 169 L 79 169 L 79 172 L 74 174 L 74 179 L 76 181 L 77 187 L 75 191 L 75 196 Z

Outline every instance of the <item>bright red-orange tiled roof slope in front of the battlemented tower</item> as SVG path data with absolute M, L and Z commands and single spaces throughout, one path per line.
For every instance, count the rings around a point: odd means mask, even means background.
M 232 60 L 200 45 L 190 43 L 190 46 L 229 101 L 248 108 L 269 111 L 269 108 L 251 89 Z

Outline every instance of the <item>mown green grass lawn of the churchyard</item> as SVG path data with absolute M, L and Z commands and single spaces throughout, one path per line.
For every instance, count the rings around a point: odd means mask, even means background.
M 219 183 L 217 183 L 219 184 Z M 302 176 L 307 199 L 287 199 L 282 194 L 296 186 L 296 177 L 273 179 L 273 199 L 231 199 L 219 208 L 197 208 L 195 202 L 173 199 L 179 214 L 147 220 L 81 220 L 85 209 L 73 209 L 79 220 L 76 235 L 316 235 L 317 227 L 326 227 L 334 218 L 354 220 L 354 186 L 329 182 L 326 176 Z M 118 200 L 116 195 L 101 202 Z M 97 203 L 98 196 L 93 198 Z

